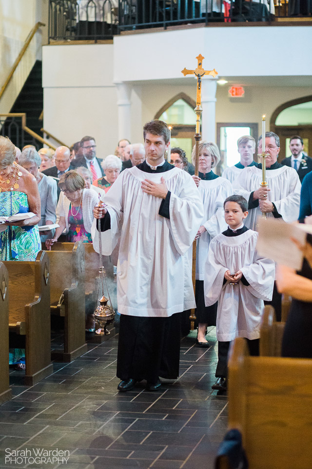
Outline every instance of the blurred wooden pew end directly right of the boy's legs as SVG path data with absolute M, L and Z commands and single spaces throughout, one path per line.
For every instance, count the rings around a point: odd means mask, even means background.
M 281 356 L 284 328 L 285 322 L 277 322 L 275 320 L 273 306 L 266 305 L 260 326 L 260 356 Z

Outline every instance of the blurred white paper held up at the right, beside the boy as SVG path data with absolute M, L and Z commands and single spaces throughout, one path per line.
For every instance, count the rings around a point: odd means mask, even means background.
M 259 237 L 256 249 L 260 256 L 269 257 L 278 264 L 286 265 L 295 270 L 301 269 L 303 254 L 291 240 L 291 237 L 297 239 L 301 244 L 305 244 L 307 233 L 312 233 L 312 226 L 259 217 L 257 231 Z

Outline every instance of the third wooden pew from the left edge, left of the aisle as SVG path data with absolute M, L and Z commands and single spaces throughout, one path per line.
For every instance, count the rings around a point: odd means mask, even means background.
M 60 249 L 70 244 L 69 249 Z M 82 242 L 55 243 L 46 251 L 50 259 L 51 314 L 64 318 L 64 349 L 52 358 L 71 362 L 87 352 L 85 343 L 85 249 Z

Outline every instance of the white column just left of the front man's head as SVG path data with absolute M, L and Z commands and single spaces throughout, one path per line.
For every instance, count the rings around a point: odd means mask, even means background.
M 131 86 L 124 82 L 115 83 L 118 106 L 118 140 L 131 142 Z

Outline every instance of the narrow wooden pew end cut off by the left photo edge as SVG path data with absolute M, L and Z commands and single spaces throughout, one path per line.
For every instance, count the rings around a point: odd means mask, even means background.
M 9 277 L 0 262 L 0 404 L 12 398 L 9 387 Z

